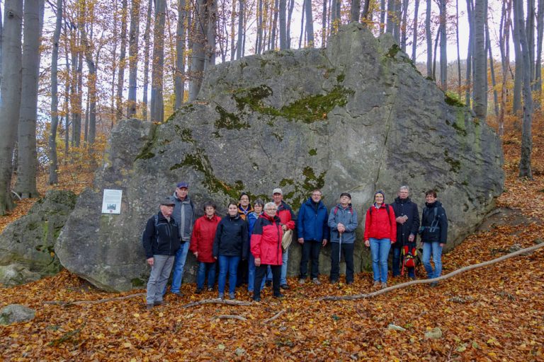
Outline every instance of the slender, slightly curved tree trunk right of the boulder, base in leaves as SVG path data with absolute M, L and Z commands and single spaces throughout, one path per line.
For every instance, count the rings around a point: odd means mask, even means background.
M 519 177 L 533 179 L 531 172 L 531 153 L 533 139 L 531 123 L 533 122 L 533 95 L 531 94 L 531 57 L 523 21 L 523 0 L 514 1 L 514 29 L 517 33 L 523 57 L 523 126 L 521 130 L 521 158 L 519 159 Z

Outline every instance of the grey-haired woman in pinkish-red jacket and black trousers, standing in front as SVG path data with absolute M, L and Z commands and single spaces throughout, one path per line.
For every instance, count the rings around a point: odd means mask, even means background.
M 264 205 L 264 213 L 257 219 L 251 233 L 251 254 L 255 257 L 255 282 L 260 286 L 266 269 L 272 269 L 272 290 L 275 298 L 283 297 L 280 291 L 281 276 L 281 239 L 283 229 L 280 218 L 276 216 L 278 206 L 273 202 Z M 254 288 L 253 300 L 261 300 L 261 288 Z

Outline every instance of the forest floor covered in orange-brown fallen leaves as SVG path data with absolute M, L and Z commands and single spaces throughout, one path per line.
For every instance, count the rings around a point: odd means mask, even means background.
M 444 255 L 443 274 L 505 255 L 514 244 L 542 242 L 543 136 L 544 121 L 536 119 L 531 181 L 517 178 L 521 136 L 504 136 L 506 182 L 497 206 L 511 212 L 503 216 L 505 222 L 488 223 Z M 76 191 L 79 186 L 73 182 Z M 24 214 L 30 202 L 22 204 L 6 219 Z M 291 278 L 286 298 L 271 298 L 267 288 L 263 301 L 250 305 L 188 306 L 215 298 L 217 291 L 196 295 L 194 284 L 184 284 L 184 297 L 169 294 L 167 305 L 147 312 L 144 296 L 96 304 L 45 303 L 129 294 L 98 291 L 62 271 L 0 288 L 0 308 L 21 303 L 37 311 L 30 322 L 0 327 L 0 356 L 5 361 L 544 361 L 543 249 L 459 274 L 436 288 L 417 285 L 375 298 L 319 300 L 370 291 L 369 273 L 358 274 L 351 286 L 320 279 L 322 286 L 300 286 Z M 390 279 L 390 284 L 403 281 Z M 131 293 L 137 292 L 143 290 Z M 237 297 L 251 300 L 240 289 Z M 390 324 L 406 330 L 388 329 Z M 436 327 L 442 337 L 426 339 L 425 333 Z

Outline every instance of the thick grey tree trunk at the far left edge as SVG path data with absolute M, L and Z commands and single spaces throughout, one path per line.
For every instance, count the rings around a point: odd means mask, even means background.
M 4 2 L 2 84 L 0 97 L 0 215 L 13 208 L 11 173 L 21 104 L 21 23 L 23 1 Z

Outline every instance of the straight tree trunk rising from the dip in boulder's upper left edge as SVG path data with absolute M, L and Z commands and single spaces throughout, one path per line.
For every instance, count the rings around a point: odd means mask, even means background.
M 164 120 L 162 78 L 164 76 L 164 21 L 166 0 L 155 0 L 155 25 L 153 29 L 153 57 L 151 72 L 151 121 Z

